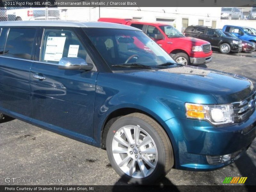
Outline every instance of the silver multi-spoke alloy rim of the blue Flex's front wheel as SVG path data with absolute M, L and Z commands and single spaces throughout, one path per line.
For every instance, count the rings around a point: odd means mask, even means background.
M 145 178 L 156 168 L 156 144 L 138 125 L 126 125 L 115 132 L 112 153 L 118 167 L 130 177 Z

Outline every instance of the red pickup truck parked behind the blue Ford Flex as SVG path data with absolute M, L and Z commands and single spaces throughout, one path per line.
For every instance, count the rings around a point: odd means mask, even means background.
M 98 21 L 119 23 L 141 29 L 180 64 L 201 65 L 212 60 L 211 44 L 208 41 L 185 37 L 171 25 L 117 18 L 100 18 Z

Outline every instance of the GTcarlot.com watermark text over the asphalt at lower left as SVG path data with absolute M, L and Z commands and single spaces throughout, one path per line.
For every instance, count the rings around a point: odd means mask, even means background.
M 5 183 L 62 183 L 62 179 L 21 179 L 16 177 L 4 178 Z

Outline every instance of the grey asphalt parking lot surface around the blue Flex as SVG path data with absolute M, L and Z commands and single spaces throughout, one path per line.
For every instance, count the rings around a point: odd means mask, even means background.
M 256 87 L 256 52 L 224 55 L 214 51 L 212 62 L 201 67 L 248 77 Z M 6 177 L 62 180 L 28 184 L 127 185 L 109 164 L 105 150 L 17 119 L 5 118 L 0 124 L 0 146 L 0 185 L 24 184 L 6 183 Z M 228 176 L 248 177 L 245 184 L 255 185 L 256 139 L 240 159 L 227 167 L 211 172 L 172 169 L 160 183 L 221 185 Z

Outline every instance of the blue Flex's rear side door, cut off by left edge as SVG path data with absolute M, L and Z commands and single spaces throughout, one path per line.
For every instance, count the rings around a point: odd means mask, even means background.
M 7 33 L 4 52 L 0 57 L 0 106 L 7 114 L 29 121 L 29 73 L 34 61 L 37 29 L 3 28 L 1 37 Z

